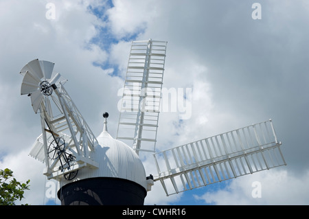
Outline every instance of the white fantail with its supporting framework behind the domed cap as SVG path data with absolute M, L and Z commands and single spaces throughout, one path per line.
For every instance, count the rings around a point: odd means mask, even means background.
M 47 178 L 98 167 L 90 157 L 98 141 L 63 87 L 67 80 L 53 69 L 54 63 L 37 59 L 21 69 L 21 95 L 30 96 L 34 112 L 41 114 L 42 134 L 30 156 L 45 163 Z

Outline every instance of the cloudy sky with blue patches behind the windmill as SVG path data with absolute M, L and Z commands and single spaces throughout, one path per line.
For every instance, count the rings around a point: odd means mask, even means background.
M 28 156 L 41 123 L 20 95 L 21 68 L 54 62 L 95 135 L 107 111 L 115 137 L 130 43 L 152 38 L 168 41 L 163 87 L 192 89 L 189 118 L 160 113 L 158 151 L 271 118 L 287 165 L 172 196 L 155 183 L 145 205 L 308 205 L 308 14 L 306 0 L 1 0 L 0 169 L 30 179 L 19 204 L 59 204 Z

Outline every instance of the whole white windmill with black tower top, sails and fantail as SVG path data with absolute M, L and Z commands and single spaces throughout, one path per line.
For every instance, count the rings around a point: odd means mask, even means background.
M 30 156 L 60 183 L 62 205 L 144 205 L 156 181 L 169 196 L 286 165 L 271 120 L 157 151 L 166 46 L 132 42 L 116 139 L 108 113 L 101 134 L 93 135 L 54 63 L 36 59 L 21 69 L 21 95 L 30 96 L 42 126 Z M 146 176 L 139 152 L 152 152 L 157 174 Z

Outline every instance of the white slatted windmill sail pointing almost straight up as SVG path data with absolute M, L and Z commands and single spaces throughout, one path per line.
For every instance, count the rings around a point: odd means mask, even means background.
M 155 152 L 166 45 L 151 39 L 131 45 L 117 139 L 132 145 L 137 154 Z

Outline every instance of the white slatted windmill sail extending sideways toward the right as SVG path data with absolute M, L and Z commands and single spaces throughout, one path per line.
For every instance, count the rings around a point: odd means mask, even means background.
M 167 196 L 286 165 L 271 119 L 154 154 Z

